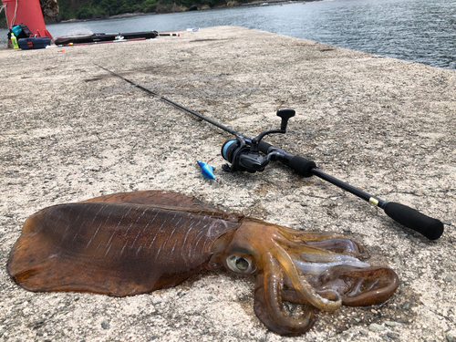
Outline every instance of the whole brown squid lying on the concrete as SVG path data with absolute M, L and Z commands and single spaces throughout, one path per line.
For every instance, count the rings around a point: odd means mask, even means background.
M 227 213 L 176 192 L 121 192 L 58 204 L 26 219 L 7 271 L 34 292 L 126 296 L 181 284 L 203 269 L 254 276 L 254 313 L 299 336 L 318 311 L 381 304 L 398 275 L 366 263 L 356 241 Z M 292 315 L 284 303 L 301 306 Z

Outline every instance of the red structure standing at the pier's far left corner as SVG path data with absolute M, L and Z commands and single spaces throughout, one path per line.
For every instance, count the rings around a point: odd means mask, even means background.
M 2 0 L 2 2 L 5 5 L 8 28 L 17 24 L 25 24 L 32 34 L 53 39 L 46 29 L 39 0 Z

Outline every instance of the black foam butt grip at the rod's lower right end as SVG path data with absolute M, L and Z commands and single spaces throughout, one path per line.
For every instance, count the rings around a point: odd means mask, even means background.
M 443 223 L 407 205 L 388 202 L 384 210 L 394 221 L 423 234 L 430 240 L 437 240 L 443 233 Z

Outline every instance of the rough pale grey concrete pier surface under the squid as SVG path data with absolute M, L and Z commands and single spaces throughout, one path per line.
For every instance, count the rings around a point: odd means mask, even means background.
M 65 51 L 61 51 L 65 50 Z M 430 242 L 382 210 L 272 163 L 223 173 L 229 134 L 114 78 L 108 67 L 327 173 L 443 221 Z M 454 341 L 456 72 L 242 27 L 129 43 L 0 50 L 0 340 Z M 202 178 L 196 160 L 217 167 Z M 303 337 L 254 316 L 253 279 L 205 272 L 175 288 L 114 298 L 30 293 L 5 271 L 26 217 L 100 194 L 160 189 L 227 211 L 364 242 L 399 275 L 384 306 L 320 313 Z

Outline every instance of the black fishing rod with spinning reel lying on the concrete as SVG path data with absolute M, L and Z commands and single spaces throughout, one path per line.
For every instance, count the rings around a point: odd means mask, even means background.
M 368 192 L 363 192 L 345 181 L 337 180 L 337 178 L 330 176 L 323 171 L 320 171 L 317 169 L 315 161 L 309 161 L 306 158 L 286 152 L 285 150 L 279 149 L 267 142 L 264 142 L 263 138 L 266 135 L 277 133 L 285 134 L 288 119 L 295 116 L 294 109 L 277 110 L 277 116 L 282 119 L 280 130 L 265 130 L 254 139 L 250 139 L 244 136 L 244 134 L 232 130 L 222 125 L 221 123 L 214 121 L 213 119 L 207 118 L 192 109 L 185 108 L 180 104 L 172 101 L 171 99 L 165 98 L 156 92 L 131 81 L 128 78 L 124 78 L 106 67 L 101 67 L 97 64 L 96 66 L 108 71 L 110 74 L 118 78 L 127 81 L 131 85 L 148 92 L 154 97 L 161 98 L 171 105 L 188 113 L 191 113 L 192 115 L 211 123 L 213 126 L 216 126 L 221 130 L 233 134 L 235 139 L 226 140 L 223 143 L 221 150 L 223 159 L 231 163 L 231 166 L 228 164 L 223 165 L 224 171 L 247 171 L 254 173 L 256 171 L 264 171 L 264 168 L 270 161 L 280 161 L 303 177 L 311 177 L 315 175 L 316 177 L 324 181 L 328 181 L 331 184 L 336 185 L 338 188 L 350 192 L 362 200 L 367 201 L 380 209 L 383 209 L 383 211 L 397 223 L 400 223 L 409 229 L 421 233 L 430 240 L 439 239 L 443 233 L 443 223 L 441 223 L 440 220 L 418 212 L 417 210 L 410 208 L 407 205 L 400 204 L 398 202 L 386 202 L 380 200 L 378 197 L 375 197 Z M 260 154 L 260 152 L 263 154 Z

